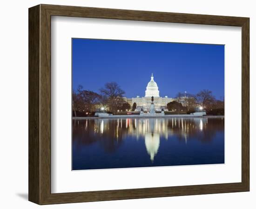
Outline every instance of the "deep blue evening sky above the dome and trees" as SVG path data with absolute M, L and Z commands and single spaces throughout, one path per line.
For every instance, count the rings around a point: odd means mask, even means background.
M 73 88 L 99 93 L 115 81 L 128 98 L 145 96 L 151 73 L 160 96 L 209 89 L 224 97 L 224 45 L 72 39 Z

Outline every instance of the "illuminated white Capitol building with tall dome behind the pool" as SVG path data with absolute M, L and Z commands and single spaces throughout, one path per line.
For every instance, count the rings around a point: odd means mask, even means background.
M 151 75 L 151 80 L 148 82 L 148 85 L 146 87 L 145 97 L 124 97 L 124 100 L 128 102 L 131 106 L 136 103 L 137 106 L 135 111 L 141 111 L 141 108 L 143 109 L 143 111 L 149 111 L 152 96 L 154 97 L 155 111 L 161 111 L 162 109 L 164 109 L 164 111 L 167 111 L 167 104 L 176 100 L 175 98 L 168 98 L 168 96 L 159 96 L 158 86 L 154 80 L 153 73 Z

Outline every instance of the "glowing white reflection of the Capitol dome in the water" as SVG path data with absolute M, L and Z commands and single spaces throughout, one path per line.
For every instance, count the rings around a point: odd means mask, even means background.
M 160 145 L 160 135 L 158 133 L 146 133 L 145 145 L 148 155 L 150 155 L 150 159 L 153 161 Z

